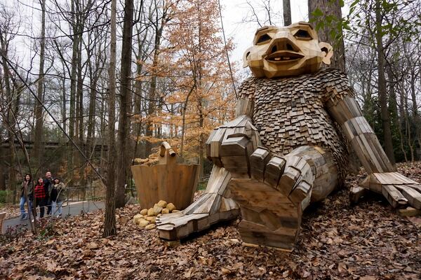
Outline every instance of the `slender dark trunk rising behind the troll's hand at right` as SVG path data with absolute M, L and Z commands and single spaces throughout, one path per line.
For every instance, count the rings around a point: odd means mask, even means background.
M 382 16 L 381 16 L 380 0 L 376 0 L 375 5 L 375 20 L 376 20 L 376 43 L 377 43 L 377 74 L 378 74 L 378 90 L 380 99 L 380 114 L 382 116 L 383 135 L 385 141 L 385 152 L 392 164 L 395 163 L 393 144 L 392 144 L 392 131 L 390 129 L 389 109 L 387 108 L 387 89 L 386 89 L 386 76 L 385 76 L 385 52 L 383 50 L 382 41 Z

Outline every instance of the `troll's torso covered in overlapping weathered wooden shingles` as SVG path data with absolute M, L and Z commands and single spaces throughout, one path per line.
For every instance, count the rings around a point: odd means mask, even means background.
M 272 153 L 286 155 L 300 146 L 321 146 L 332 153 L 341 179 L 345 178 L 347 143 L 326 110 L 328 99 L 335 103 L 353 94 L 344 73 L 321 69 L 288 78 L 248 78 L 240 94 L 253 100 L 253 124 Z

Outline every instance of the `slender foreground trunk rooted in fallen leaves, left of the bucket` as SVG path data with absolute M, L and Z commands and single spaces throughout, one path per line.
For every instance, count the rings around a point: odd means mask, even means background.
M 105 221 L 102 237 L 116 235 L 115 207 L 115 98 L 116 98 L 116 2 L 111 1 L 111 43 L 109 54 L 109 141 L 108 141 L 108 171 L 107 191 L 105 198 Z

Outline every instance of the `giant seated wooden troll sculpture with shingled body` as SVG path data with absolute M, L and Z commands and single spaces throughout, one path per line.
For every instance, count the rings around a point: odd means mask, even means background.
M 244 54 L 254 77 L 240 87 L 238 118 L 206 142 L 214 167 L 203 196 L 156 222 L 160 237 L 180 239 L 235 218 L 246 244 L 290 251 L 302 211 L 323 200 L 347 174 L 350 142 L 369 176 L 362 186 L 397 207 L 421 207 L 421 186 L 396 172 L 367 120 L 347 77 L 330 64 L 307 22 L 262 27 Z

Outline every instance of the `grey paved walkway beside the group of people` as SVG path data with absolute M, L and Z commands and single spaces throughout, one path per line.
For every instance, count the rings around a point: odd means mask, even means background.
M 84 212 L 93 212 L 98 209 L 104 209 L 105 203 L 104 202 L 92 202 L 92 201 L 83 201 L 83 202 L 70 202 L 68 206 L 62 208 L 62 216 L 76 216 L 81 214 L 81 211 Z M 39 213 L 39 209 L 37 209 Z M 47 210 L 46 210 L 47 211 Z M 20 218 L 11 218 L 8 220 L 3 221 L 3 228 L 1 228 L 1 233 L 6 232 L 8 227 L 13 227 L 15 225 L 27 225 L 27 228 L 30 229 L 31 226 L 29 225 L 28 220 L 20 220 Z

